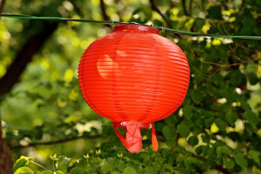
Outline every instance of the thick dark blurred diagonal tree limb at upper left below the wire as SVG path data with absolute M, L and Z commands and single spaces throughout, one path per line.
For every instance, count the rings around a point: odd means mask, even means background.
M 33 55 L 42 47 L 44 42 L 56 30 L 58 24 L 45 22 L 45 29 L 32 35 L 16 55 L 13 63 L 6 74 L 0 79 L 0 95 L 9 92 L 18 81 L 26 65 L 31 61 Z

